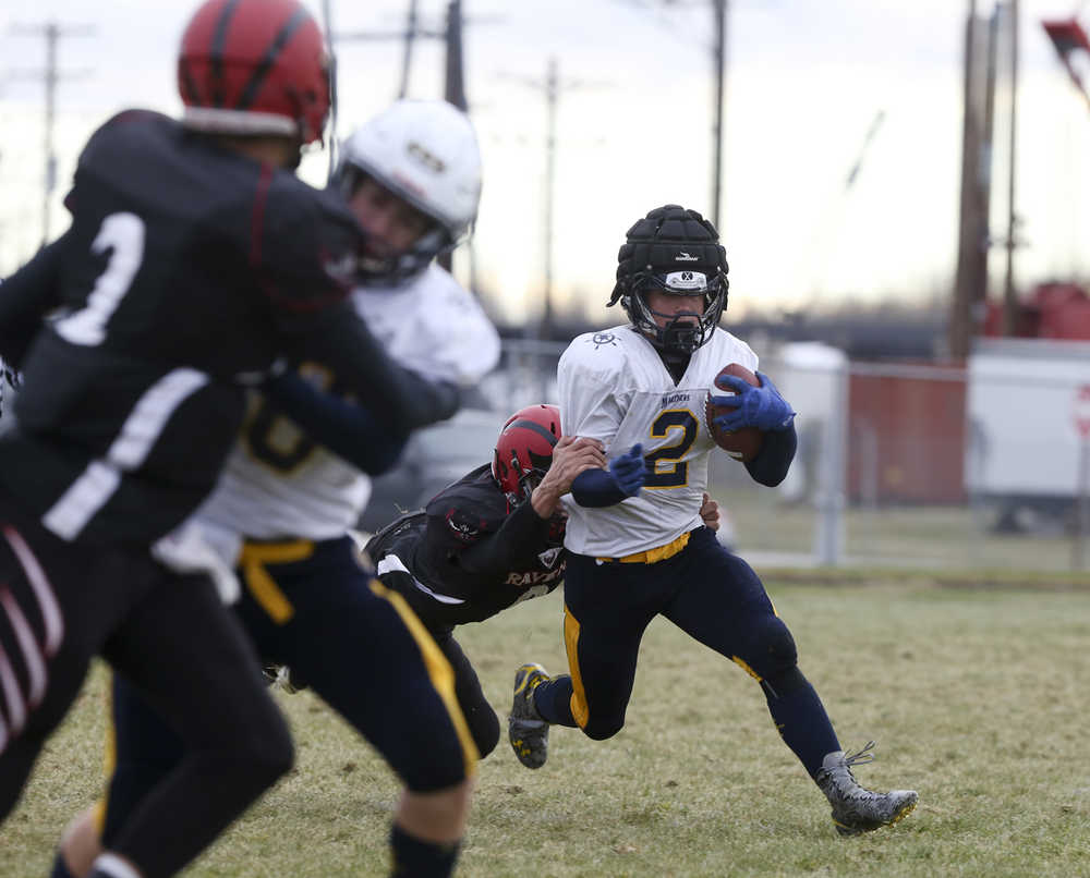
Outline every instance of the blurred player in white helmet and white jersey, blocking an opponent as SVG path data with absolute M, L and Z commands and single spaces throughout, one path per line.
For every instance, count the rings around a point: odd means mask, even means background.
M 346 142 L 331 185 L 367 232 L 364 268 L 373 281 L 352 296 L 371 331 L 420 375 L 475 385 L 495 367 L 499 337 L 473 295 L 434 264 L 476 217 L 481 159 L 468 117 L 444 101 L 396 102 Z M 299 376 L 328 393 L 312 392 Z M 390 837 L 395 873 L 448 875 L 477 751 L 449 663 L 403 598 L 363 569 L 348 535 L 371 491 L 349 461 L 382 472 L 405 437 L 340 402 L 336 377 L 312 365 L 274 387 L 272 400 L 253 401 L 196 521 L 238 566 L 235 609 L 258 653 L 298 671 L 404 781 Z M 284 412 L 305 419 L 307 431 Z M 421 658 L 429 679 L 411 671 Z M 177 736 L 120 679 L 113 720 L 119 747 L 109 795 L 66 833 L 71 866 L 87 862 L 98 839 L 108 840 L 182 757 Z

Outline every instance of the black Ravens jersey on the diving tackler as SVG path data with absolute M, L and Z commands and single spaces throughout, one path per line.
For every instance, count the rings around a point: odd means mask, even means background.
M 398 556 L 431 592 L 459 601 L 411 596 L 425 621 L 459 625 L 560 585 L 561 540 L 530 503 L 512 510 L 485 464 L 436 495 L 423 512 L 384 528 L 367 550 L 376 562 Z

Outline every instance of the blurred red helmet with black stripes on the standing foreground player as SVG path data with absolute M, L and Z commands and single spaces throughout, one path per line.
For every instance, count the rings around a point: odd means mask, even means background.
M 298 0 L 207 0 L 178 57 L 184 124 L 220 134 L 322 138 L 329 57 Z

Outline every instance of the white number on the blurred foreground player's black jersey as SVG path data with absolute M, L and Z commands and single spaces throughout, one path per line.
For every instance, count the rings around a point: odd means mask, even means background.
M 144 260 L 144 220 L 135 214 L 110 214 L 102 220 L 92 253 L 111 251 L 87 304 L 55 325 L 62 339 L 86 346 L 101 344 L 106 324 L 118 309 Z

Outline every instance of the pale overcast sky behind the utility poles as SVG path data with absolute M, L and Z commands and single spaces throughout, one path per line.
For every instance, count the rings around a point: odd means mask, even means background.
M 332 0 L 337 32 L 403 25 L 408 0 Z M 438 27 L 443 0 L 420 0 Z M 1016 203 L 1026 246 L 1017 280 L 1090 275 L 1087 206 L 1090 112 L 1040 27 L 1077 5 L 1021 0 L 1021 89 Z M 320 3 L 310 2 L 316 15 Z M 945 294 L 954 273 L 966 0 L 734 0 L 720 231 L 730 260 L 730 309 L 799 307 Z M 56 21 L 60 42 L 57 198 L 89 133 L 112 112 L 175 113 L 174 60 L 191 0 L 4 0 L 0 17 L 0 271 L 41 237 L 44 86 L 33 75 L 45 40 L 16 26 Z M 991 11 L 991 0 L 978 0 Z M 626 229 L 675 202 L 710 214 L 711 4 L 692 0 L 463 0 L 467 90 L 485 160 L 475 237 L 477 277 L 501 319 L 533 319 L 544 277 L 545 101 L 524 84 L 559 63 L 555 236 L 559 307 L 600 320 Z M 86 33 L 86 28 L 89 33 Z M 336 45 L 340 124 L 396 97 L 401 44 Z M 443 51 L 416 45 L 412 97 L 441 96 Z M 998 96 L 1005 108 L 1006 93 Z M 882 113 L 855 185 L 849 169 Z M 993 207 L 1005 211 L 1005 133 Z M 324 181 L 326 159 L 304 163 Z M 52 233 L 66 218 L 53 209 Z M 996 222 L 994 232 L 1004 229 Z M 1002 278 L 1003 254 L 993 257 Z M 469 260 L 456 258 L 468 278 Z M 609 315 L 607 317 L 607 314 Z M 729 315 L 728 315 L 729 317 Z M 619 318 L 617 318 L 619 319 Z

